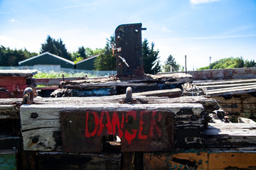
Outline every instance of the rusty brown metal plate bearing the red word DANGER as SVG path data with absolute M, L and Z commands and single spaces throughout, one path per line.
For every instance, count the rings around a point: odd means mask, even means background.
M 174 149 L 174 113 L 83 111 L 60 113 L 64 152 L 101 152 L 102 137 L 118 135 L 122 152 Z

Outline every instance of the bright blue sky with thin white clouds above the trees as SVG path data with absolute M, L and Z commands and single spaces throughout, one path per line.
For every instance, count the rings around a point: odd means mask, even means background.
M 255 0 L 0 0 L 0 45 L 39 52 L 47 35 L 68 51 L 105 47 L 124 23 L 142 23 L 161 63 L 189 70 L 227 57 L 256 60 Z

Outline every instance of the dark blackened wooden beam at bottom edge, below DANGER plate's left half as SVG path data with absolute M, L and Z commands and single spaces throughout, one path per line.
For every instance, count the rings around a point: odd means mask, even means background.
M 120 153 L 63 153 L 39 152 L 37 156 L 38 169 L 121 169 Z

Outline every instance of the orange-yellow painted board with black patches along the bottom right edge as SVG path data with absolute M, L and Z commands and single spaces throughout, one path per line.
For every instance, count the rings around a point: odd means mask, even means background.
M 256 169 L 256 153 L 144 153 L 144 169 Z

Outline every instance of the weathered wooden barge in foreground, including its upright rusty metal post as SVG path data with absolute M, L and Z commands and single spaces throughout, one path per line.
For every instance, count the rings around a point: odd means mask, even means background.
M 181 96 L 189 74 L 144 75 L 141 30 L 117 28 L 117 76 L 0 98 L 0 169 L 256 169 L 256 124 L 212 123 L 215 98 Z

